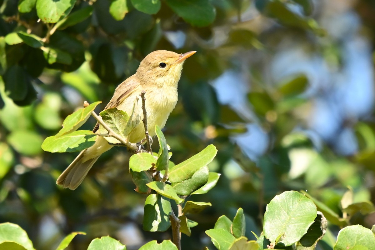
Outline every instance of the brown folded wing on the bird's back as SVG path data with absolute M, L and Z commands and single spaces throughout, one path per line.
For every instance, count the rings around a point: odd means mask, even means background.
M 117 86 L 115 93 L 113 94 L 110 102 L 105 106 L 104 110 L 117 107 L 124 99 L 126 99 L 136 87 L 139 85 L 139 81 L 135 75 L 130 76 L 125 81 L 121 82 Z M 99 123 L 96 123 L 93 132 L 95 133 L 99 129 Z

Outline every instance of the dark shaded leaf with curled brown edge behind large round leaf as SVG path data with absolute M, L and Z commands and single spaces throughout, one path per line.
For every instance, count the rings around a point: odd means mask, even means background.
M 327 220 L 323 214 L 318 211 L 314 223 L 303 237 L 296 243 L 296 250 L 314 250 L 324 234 L 326 234 Z

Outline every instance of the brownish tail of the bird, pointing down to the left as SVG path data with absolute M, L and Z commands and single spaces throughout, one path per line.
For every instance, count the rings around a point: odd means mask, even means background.
M 68 187 L 71 190 L 76 189 L 82 183 L 83 179 L 86 177 L 90 168 L 98 160 L 99 156 L 93 159 L 83 159 L 83 150 L 78 154 L 77 158 L 65 169 L 65 171 L 58 177 L 56 183 L 62 185 L 64 188 Z M 86 160 L 85 162 L 83 160 Z

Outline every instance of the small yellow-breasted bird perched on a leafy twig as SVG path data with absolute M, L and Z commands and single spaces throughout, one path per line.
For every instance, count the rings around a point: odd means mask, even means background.
M 129 142 L 136 143 L 145 138 L 142 110 L 133 108 L 141 91 L 145 91 L 147 100 L 145 108 L 148 127 L 154 128 L 158 125 L 163 128 L 177 103 L 177 85 L 181 77 L 183 63 L 195 52 L 177 54 L 166 50 L 153 51 L 141 61 L 134 75 L 117 86 L 104 110 L 117 107 L 129 115 L 133 111 L 140 117 L 139 123 L 128 136 Z M 96 124 L 93 132 L 99 133 L 99 123 Z M 150 129 L 149 136 L 152 138 L 154 135 L 154 129 Z M 108 144 L 104 137 L 97 136 L 95 143 L 78 154 L 58 177 L 56 183 L 64 188 L 77 189 L 96 160 L 112 147 L 113 145 Z

